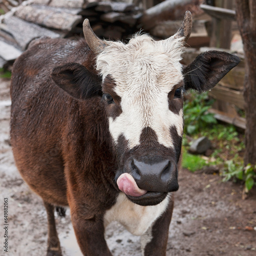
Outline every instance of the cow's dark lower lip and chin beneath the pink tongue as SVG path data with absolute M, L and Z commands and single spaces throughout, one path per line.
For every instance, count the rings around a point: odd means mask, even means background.
M 167 194 L 167 192 L 147 191 L 146 194 L 140 197 L 132 197 L 129 195 L 126 196 L 135 204 L 139 204 L 141 206 L 150 206 L 161 203 L 165 199 Z

